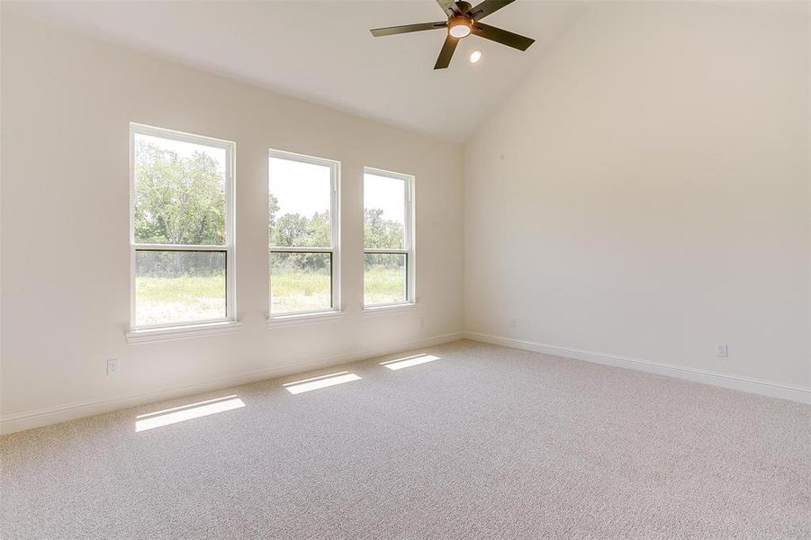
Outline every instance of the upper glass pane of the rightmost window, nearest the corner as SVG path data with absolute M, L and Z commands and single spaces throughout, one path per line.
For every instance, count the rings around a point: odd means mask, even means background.
M 364 247 L 405 247 L 406 181 L 364 175 Z

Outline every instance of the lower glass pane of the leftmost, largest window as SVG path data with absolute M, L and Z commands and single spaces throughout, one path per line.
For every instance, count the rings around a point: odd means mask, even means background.
M 226 318 L 224 251 L 136 251 L 136 326 Z

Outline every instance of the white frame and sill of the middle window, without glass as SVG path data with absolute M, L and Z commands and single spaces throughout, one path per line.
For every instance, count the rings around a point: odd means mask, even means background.
M 270 192 L 270 158 L 286 159 L 289 161 L 298 161 L 300 163 L 307 163 L 310 165 L 327 166 L 329 167 L 329 188 L 330 188 L 330 203 L 329 203 L 329 221 L 331 230 L 331 244 L 332 247 L 284 247 L 284 246 L 271 246 L 267 244 L 267 283 L 270 285 L 267 291 L 267 327 L 284 327 L 298 323 L 312 323 L 320 321 L 334 320 L 344 314 L 341 306 L 341 257 L 340 257 L 340 178 L 341 178 L 341 163 L 335 159 L 328 159 L 326 157 L 308 156 L 306 154 L 298 154 L 296 152 L 289 152 L 287 150 L 279 150 L 270 148 L 267 152 L 268 171 L 267 171 L 267 189 Z M 330 291 L 332 306 L 326 310 L 312 310 L 312 311 L 291 311 L 286 313 L 274 314 L 273 310 L 273 273 L 270 269 L 270 257 L 273 253 L 329 253 L 331 254 L 331 275 L 330 275 Z

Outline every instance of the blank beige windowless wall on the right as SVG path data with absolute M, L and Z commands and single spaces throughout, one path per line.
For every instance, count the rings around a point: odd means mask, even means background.
M 465 148 L 465 329 L 811 386 L 809 42 L 592 7 Z

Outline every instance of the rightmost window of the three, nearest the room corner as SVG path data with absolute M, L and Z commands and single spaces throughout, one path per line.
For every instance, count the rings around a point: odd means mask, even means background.
M 364 170 L 364 306 L 414 302 L 414 177 Z

